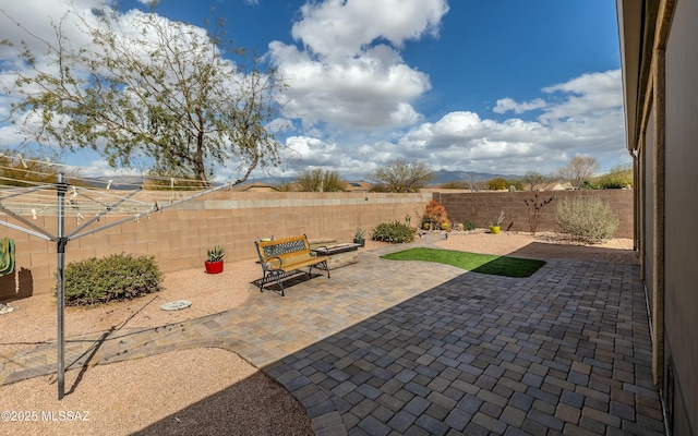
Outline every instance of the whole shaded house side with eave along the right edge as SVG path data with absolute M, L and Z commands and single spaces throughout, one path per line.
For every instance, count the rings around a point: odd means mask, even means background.
M 698 435 L 698 1 L 616 9 L 654 382 L 669 432 Z

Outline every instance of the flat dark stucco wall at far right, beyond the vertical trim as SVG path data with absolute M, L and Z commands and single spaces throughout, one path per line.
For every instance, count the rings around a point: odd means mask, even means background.
M 698 4 L 676 1 L 666 44 L 664 372 L 675 434 L 698 431 Z M 665 377 L 665 384 L 669 377 Z M 670 392 L 670 386 L 664 389 Z M 693 433 L 691 429 L 693 428 Z

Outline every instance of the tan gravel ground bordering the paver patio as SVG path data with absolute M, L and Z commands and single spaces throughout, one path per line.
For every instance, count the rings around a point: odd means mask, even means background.
M 382 243 L 366 241 L 361 250 Z M 629 240 L 612 240 L 593 246 L 573 244 L 554 234 L 482 231 L 449 234 L 436 242 L 443 249 L 508 254 L 534 258 L 576 258 L 637 263 Z M 69 307 L 65 337 L 105 331 L 113 326 L 155 327 L 226 311 L 245 301 L 250 282 L 261 276 L 253 259 L 226 264 L 225 280 L 201 269 L 168 274 L 164 290 L 133 302 L 95 308 Z M 190 300 L 185 311 L 165 312 L 168 301 Z M 0 362 L 17 350 L 56 341 L 56 302 L 52 295 L 35 295 L 5 302 L 17 307 L 0 315 Z M 220 349 L 197 349 L 128 362 L 97 365 L 86 372 L 65 373 L 67 396 L 57 399 L 56 376 L 44 376 L 0 387 L 0 412 L 38 411 L 39 422 L 0 420 L 0 434 L 225 434 L 311 435 L 310 419 L 290 395 L 264 374 Z M 212 396 L 219 401 L 197 402 Z M 210 404 L 215 404 L 212 409 Z M 178 411 L 186 408 L 186 416 Z M 216 410 L 218 408 L 218 410 Z M 41 412 L 55 420 L 80 413 L 81 421 L 41 422 Z M 64 412 L 60 415 L 59 412 Z M 87 412 L 87 420 L 82 421 Z M 181 412 L 180 412 L 181 413 Z M 4 417 L 4 416 L 3 416 Z

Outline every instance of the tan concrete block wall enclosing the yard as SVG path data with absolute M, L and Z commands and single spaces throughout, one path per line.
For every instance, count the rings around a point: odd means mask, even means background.
M 631 191 L 593 191 L 591 194 L 607 199 L 618 211 L 621 226 L 616 237 L 631 238 Z M 558 201 L 588 194 L 561 192 L 555 195 L 555 201 Z M 524 198 L 531 196 L 530 193 L 518 192 L 359 194 L 218 191 L 153 213 L 149 218 L 129 220 L 69 240 L 64 261 L 68 264 L 89 257 L 130 253 L 155 256 L 164 272 L 191 268 L 203 270 L 206 250 L 215 244 L 225 246 L 226 261 L 238 262 L 256 258 L 254 240 L 257 238 L 305 233 L 310 240 L 351 242 L 357 227 L 365 229 L 369 237 L 371 229 L 378 223 L 395 220 L 404 222 L 407 215 L 411 217 L 412 225 L 417 225 L 418 216 L 432 198 L 442 203 L 449 216 L 460 221 L 468 219 L 478 227 L 486 227 L 490 219 L 504 210 L 504 228 L 514 221 L 513 231 L 528 231 Z M 137 199 L 137 196 L 134 198 Z M 545 209 L 539 231 L 555 229 L 554 207 L 551 204 Z M 31 214 L 26 215 L 28 217 L 25 218 L 39 228 L 51 234 L 57 233 L 56 216 L 41 215 L 34 219 Z M 122 218 L 107 215 L 88 229 L 107 226 Z M 21 226 L 14 218 L 1 213 L 0 219 Z M 64 234 L 69 234 L 77 226 L 75 216 L 67 216 L 64 223 Z M 2 226 L 0 238 L 5 237 L 15 240 L 15 270 L 12 275 L 0 277 L 0 301 L 53 292 L 57 243 Z

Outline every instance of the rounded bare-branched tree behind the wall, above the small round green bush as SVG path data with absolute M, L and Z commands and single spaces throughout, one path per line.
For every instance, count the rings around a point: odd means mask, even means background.
M 419 192 L 433 180 L 431 167 L 424 162 L 408 162 L 397 159 L 366 174 L 374 191 Z

